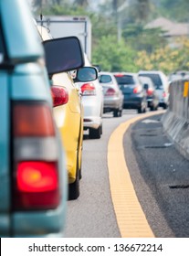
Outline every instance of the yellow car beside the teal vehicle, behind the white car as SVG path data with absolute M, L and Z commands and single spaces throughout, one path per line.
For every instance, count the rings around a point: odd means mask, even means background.
M 37 26 L 43 41 L 51 39 L 46 27 Z M 64 87 L 68 91 L 68 103 L 54 107 L 54 117 L 66 150 L 68 170 L 68 199 L 79 197 L 79 179 L 81 177 L 81 158 L 83 143 L 83 106 L 79 90 L 68 72 L 50 77 L 53 85 Z

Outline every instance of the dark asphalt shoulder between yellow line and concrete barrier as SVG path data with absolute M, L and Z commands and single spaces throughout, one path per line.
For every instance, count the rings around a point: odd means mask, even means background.
M 131 126 L 125 157 L 155 237 L 189 238 L 189 161 L 163 133 L 161 116 Z

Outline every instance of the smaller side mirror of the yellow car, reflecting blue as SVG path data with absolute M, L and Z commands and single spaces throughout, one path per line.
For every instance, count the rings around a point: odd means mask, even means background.
M 83 67 L 78 69 L 74 82 L 92 81 L 98 78 L 98 71 L 94 67 Z

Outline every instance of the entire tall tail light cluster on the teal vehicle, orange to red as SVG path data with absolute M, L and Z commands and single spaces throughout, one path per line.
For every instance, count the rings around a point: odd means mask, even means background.
M 45 102 L 13 105 L 13 208 L 58 208 L 58 148 L 52 111 Z

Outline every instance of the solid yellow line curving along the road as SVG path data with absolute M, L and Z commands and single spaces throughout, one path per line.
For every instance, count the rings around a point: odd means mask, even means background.
M 122 141 L 131 123 L 159 113 L 162 112 L 149 112 L 136 116 L 121 123 L 110 135 L 108 144 L 110 193 L 122 238 L 154 237 L 132 185 Z

